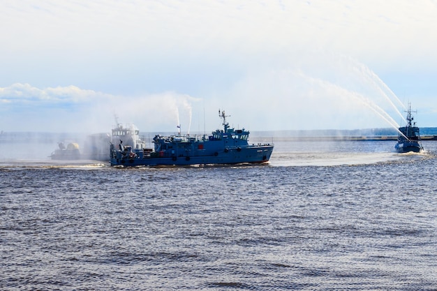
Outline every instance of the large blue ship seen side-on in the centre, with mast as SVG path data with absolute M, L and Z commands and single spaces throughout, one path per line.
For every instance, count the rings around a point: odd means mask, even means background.
M 249 131 L 230 128 L 224 111 L 218 110 L 223 119 L 223 130 L 211 135 L 177 135 L 154 137 L 154 149 L 142 145 L 126 145 L 120 138 L 118 149 L 110 146 L 112 166 L 139 165 L 197 165 L 267 163 L 273 144 L 249 144 Z M 180 126 L 178 126 L 180 130 Z

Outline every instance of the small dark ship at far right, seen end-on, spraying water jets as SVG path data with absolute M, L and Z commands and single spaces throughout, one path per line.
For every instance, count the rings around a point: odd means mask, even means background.
M 413 120 L 411 105 L 409 104 L 406 118 L 407 124 L 399 128 L 400 133 L 398 135 L 397 144 L 394 146 L 394 149 L 396 149 L 398 153 L 408 153 L 409 151 L 419 153 L 423 151 L 420 129 Z

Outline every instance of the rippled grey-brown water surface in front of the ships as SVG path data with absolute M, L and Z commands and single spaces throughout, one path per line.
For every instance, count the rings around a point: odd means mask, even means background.
M 437 290 L 437 142 L 269 165 L 0 160 L 1 290 Z

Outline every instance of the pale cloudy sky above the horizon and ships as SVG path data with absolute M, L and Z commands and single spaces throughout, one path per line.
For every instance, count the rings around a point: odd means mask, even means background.
M 0 2 L 0 130 L 437 126 L 437 2 Z

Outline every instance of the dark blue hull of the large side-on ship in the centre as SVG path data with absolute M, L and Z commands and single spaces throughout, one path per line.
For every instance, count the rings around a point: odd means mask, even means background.
M 273 146 L 251 146 L 246 148 L 214 151 L 198 156 L 144 156 L 141 151 L 135 155 L 123 155 L 121 151 L 113 151 L 110 163 L 112 166 L 158 166 L 158 165 L 208 165 L 267 163 L 272 155 Z

